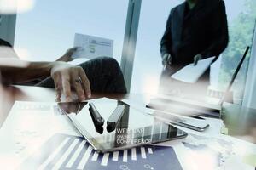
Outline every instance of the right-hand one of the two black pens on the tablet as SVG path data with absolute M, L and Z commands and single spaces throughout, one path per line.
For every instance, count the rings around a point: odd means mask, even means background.
M 111 116 L 108 117 L 107 130 L 113 131 L 125 112 L 125 105 L 118 105 Z

